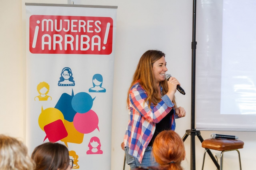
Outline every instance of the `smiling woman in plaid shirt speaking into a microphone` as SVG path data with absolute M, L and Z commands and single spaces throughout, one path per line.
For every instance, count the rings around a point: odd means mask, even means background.
M 152 158 L 154 138 L 163 130 L 175 130 L 175 118 L 186 111 L 177 107 L 175 77 L 167 81 L 165 54 L 148 50 L 138 62 L 127 95 L 129 121 L 124 137 L 126 163 L 131 169 L 158 166 Z

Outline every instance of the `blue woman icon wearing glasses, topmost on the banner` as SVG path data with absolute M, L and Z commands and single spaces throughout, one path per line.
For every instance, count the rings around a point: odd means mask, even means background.
M 71 69 L 69 67 L 65 67 L 61 71 L 58 86 L 74 86 L 75 81 L 73 79 Z

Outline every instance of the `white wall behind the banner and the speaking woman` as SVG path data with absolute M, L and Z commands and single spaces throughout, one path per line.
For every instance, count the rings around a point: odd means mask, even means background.
M 67 3 L 67 0 L 10 0 L 0 6 L 0 133 L 25 138 L 25 2 Z M 188 0 L 87 0 L 74 4 L 118 6 L 115 46 L 115 71 L 112 122 L 112 170 L 123 167 L 124 151 L 120 144 L 128 122 L 126 95 L 131 77 L 141 55 L 148 49 L 166 53 L 168 73 L 176 77 L 186 95 L 176 93 L 177 104 L 187 115 L 177 120 L 176 132 L 183 137 L 191 128 L 191 41 L 192 3 Z M 198 3 L 200 3 L 198 1 Z M 6 16 L 3 16 L 6 15 Z M 200 42 L 198 42 L 200 45 Z M 209 138 L 212 131 L 201 131 L 202 138 Z M 224 133 L 224 132 L 214 132 Z M 251 170 L 256 147 L 256 132 L 225 132 L 239 136 L 245 145 L 240 149 L 243 170 Z M 204 149 L 196 137 L 196 169 L 201 169 Z M 186 159 L 184 169 L 190 169 L 190 136 L 184 142 Z M 234 151 L 232 151 L 234 152 Z M 225 169 L 236 170 L 236 153 L 225 153 Z M 232 154 L 231 154 L 232 153 Z M 128 165 L 126 166 L 128 168 Z M 215 170 L 207 155 L 205 169 Z

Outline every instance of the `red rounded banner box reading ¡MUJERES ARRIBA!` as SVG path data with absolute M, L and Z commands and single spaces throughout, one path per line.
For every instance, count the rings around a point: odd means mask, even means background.
M 33 54 L 100 54 L 112 53 L 113 19 L 31 15 L 29 51 Z

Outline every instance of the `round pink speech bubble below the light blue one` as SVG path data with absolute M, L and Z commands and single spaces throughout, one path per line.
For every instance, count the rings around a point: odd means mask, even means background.
M 75 129 L 77 129 L 77 131 L 79 131 L 80 133 L 91 133 L 96 128 L 99 131 L 99 118 L 93 110 L 89 110 L 86 113 L 77 113 L 74 116 L 73 123 Z

